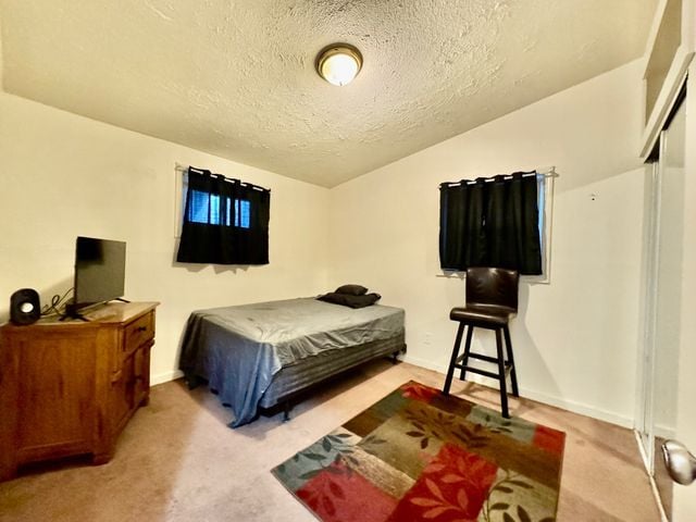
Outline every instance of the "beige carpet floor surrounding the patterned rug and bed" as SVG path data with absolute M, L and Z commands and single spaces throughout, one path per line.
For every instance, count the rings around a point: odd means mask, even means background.
M 270 470 L 409 380 L 440 387 L 444 375 L 377 361 L 298 405 L 288 423 L 277 414 L 238 430 L 207 389 L 156 386 L 108 464 L 62 464 L 0 483 L 0 521 L 312 522 Z M 497 406 L 496 390 L 452 386 Z M 511 411 L 568 435 L 559 521 L 659 520 L 631 431 L 524 399 Z

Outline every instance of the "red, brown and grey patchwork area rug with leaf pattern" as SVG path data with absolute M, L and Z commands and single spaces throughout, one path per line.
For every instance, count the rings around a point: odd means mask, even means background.
M 411 381 L 272 472 L 324 522 L 549 522 L 564 442 Z

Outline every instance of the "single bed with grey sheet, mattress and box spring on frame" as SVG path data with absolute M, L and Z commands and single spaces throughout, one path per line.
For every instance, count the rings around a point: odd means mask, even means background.
M 232 427 L 284 407 L 301 391 L 372 359 L 406 349 L 403 310 L 352 309 L 314 298 L 198 310 L 179 358 L 189 387 L 208 382 L 229 406 Z

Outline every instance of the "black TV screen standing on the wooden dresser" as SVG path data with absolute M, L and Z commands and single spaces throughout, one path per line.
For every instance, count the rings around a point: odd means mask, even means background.
M 124 241 L 77 237 L 74 308 L 79 309 L 122 297 L 125 272 Z

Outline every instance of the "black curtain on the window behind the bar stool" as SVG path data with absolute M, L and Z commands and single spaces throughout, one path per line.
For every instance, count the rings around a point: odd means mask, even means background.
M 439 258 L 445 270 L 469 266 L 542 273 L 536 175 L 440 185 Z

